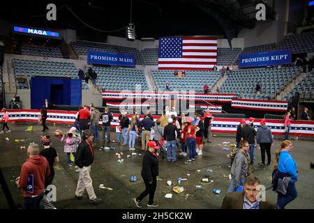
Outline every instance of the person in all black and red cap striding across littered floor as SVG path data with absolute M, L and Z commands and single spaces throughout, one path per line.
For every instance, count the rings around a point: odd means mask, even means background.
M 145 183 L 145 190 L 140 194 L 139 197 L 134 198 L 135 205 L 137 208 L 142 208 L 140 201 L 149 194 L 149 202 L 147 203 L 148 207 L 158 207 L 157 203 L 154 203 L 154 195 L 157 187 L 157 176 L 159 174 L 158 167 L 158 157 L 155 153 L 155 150 L 159 147 L 156 145 L 155 141 L 149 141 L 147 146 L 149 147 L 145 151 L 143 162 L 142 162 L 142 178 Z

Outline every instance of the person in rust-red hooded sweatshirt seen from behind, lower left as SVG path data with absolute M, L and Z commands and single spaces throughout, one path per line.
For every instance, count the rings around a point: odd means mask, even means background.
M 29 145 L 29 159 L 22 165 L 20 178 L 15 181 L 17 188 L 22 190 L 25 209 L 39 209 L 40 201 L 45 195 L 45 178 L 50 176 L 48 161 L 39 153 L 38 144 Z

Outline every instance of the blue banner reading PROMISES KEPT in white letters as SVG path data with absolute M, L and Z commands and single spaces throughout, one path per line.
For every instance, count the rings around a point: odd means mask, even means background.
M 244 54 L 239 56 L 239 68 L 276 66 L 290 64 L 292 61 L 290 49 L 272 50 L 256 54 Z

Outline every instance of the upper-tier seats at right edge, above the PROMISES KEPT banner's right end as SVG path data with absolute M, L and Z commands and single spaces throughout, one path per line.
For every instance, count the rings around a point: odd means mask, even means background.
M 278 49 L 292 49 L 293 54 L 314 52 L 314 32 L 285 36 Z

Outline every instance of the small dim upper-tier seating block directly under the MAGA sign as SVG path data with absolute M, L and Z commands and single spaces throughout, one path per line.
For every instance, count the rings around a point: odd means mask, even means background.
M 47 56 L 47 57 L 62 58 L 61 51 L 57 47 L 22 45 L 21 51 L 22 51 L 22 55 Z

